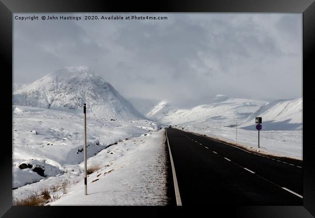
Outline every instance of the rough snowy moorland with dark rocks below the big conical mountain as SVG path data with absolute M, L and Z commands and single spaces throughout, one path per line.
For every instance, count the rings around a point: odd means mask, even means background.
M 104 121 L 87 116 L 87 157 L 117 141 L 161 129 L 147 120 Z M 79 169 L 83 161 L 83 117 L 28 106 L 13 107 L 13 187 Z M 20 165 L 30 167 L 21 168 Z M 42 176 L 35 172 L 41 168 Z

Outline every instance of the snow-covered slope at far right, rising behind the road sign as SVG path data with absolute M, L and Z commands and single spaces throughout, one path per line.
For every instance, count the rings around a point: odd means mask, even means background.
M 267 103 L 249 116 L 241 128 L 255 130 L 255 117 L 262 117 L 263 130 L 302 129 L 302 98 Z

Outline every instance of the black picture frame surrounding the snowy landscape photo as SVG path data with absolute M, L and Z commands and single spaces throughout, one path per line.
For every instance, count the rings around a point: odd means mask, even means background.
M 83 210 L 107 216 L 109 213 L 121 215 L 121 207 L 85 206 L 12 206 L 12 117 L 11 113 L 13 75 L 13 13 L 45 12 L 250 12 L 250 13 L 302 13 L 303 14 L 303 117 L 308 118 L 307 110 L 312 109 L 313 93 L 311 76 L 315 53 L 315 3 L 314 0 L 172 0 L 157 2 L 101 1 L 101 0 L 0 0 L 0 59 L 1 64 L 1 133 L 0 158 L 1 197 L 0 216 L 3 217 L 71 217 L 82 216 Z M 11 76 L 11 77 L 10 77 Z M 4 119 L 3 119 L 4 118 Z M 218 207 L 209 205 L 207 215 L 219 213 L 220 217 L 312 217 L 315 216 L 315 158 L 314 140 L 310 119 L 303 120 L 303 206 L 241 206 Z M 313 134 L 314 135 L 314 134 Z M 11 142 L 10 142 L 11 140 Z M 125 211 L 138 214 L 144 211 L 164 212 L 173 209 L 180 213 L 187 208 L 180 207 L 124 207 Z M 192 208 L 190 208 L 192 209 Z M 201 209 L 201 208 L 200 208 Z M 191 212 L 198 215 L 199 209 Z M 150 216 L 155 216 L 151 214 Z

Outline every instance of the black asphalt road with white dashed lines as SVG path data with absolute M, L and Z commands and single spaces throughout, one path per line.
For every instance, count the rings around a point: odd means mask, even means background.
M 167 128 L 182 205 L 303 205 L 299 161 Z

